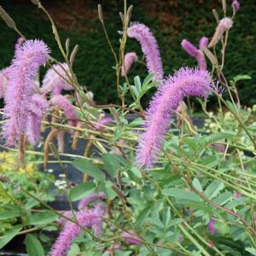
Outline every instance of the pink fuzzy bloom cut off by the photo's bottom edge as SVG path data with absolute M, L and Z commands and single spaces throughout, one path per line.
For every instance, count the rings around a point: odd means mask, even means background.
M 83 228 L 92 228 L 98 224 L 99 219 L 102 219 L 102 212 L 100 207 L 95 207 L 90 211 L 78 212 L 76 218 L 78 223 Z M 78 237 L 82 228 L 78 224 L 67 221 L 60 236 L 55 241 L 52 249 L 49 252 L 49 256 L 64 256 L 66 255 L 69 248 L 72 246 L 73 239 Z

